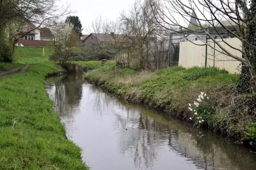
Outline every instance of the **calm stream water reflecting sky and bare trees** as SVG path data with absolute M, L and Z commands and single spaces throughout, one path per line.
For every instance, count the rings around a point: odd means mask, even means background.
M 256 169 L 248 149 L 86 83 L 66 75 L 49 79 L 47 91 L 92 170 Z

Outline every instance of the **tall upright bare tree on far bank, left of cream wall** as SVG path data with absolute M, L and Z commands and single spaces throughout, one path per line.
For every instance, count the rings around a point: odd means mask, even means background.
M 161 9 L 160 1 L 155 2 Z M 149 46 L 150 42 L 157 42 L 161 37 L 163 27 L 156 24 L 156 9 L 151 8 L 149 0 L 135 1 L 131 9 L 126 14 L 124 11 L 120 14 L 120 27 L 122 34 L 133 43 L 133 48 L 138 51 L 141 68 L 147 68 L 149 65 Z

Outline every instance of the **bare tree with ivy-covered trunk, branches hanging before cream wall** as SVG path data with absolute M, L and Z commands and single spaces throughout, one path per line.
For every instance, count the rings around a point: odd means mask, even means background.
M 152 9 L 156 10 L 156 13 L 154 13 L 157 20 L 156 24 L 179 34 L 190 42 L 192 41 L 189 36 L 196 35 L 203 42 L 196 45 L 210 46 L 212 49 L 240 61 L 243 64 L 242 69 L 249 69 L 252 80 L 251 87 L 253 91 L 256 90 L 256 44 L 255 40 L 252 39 L 255 36 L 252 36 L 251 33 L 256 27 L 254 1 L 164 0 L 164 10 L 159 8 L 154 0 L 149 1 Z M 190 20 L 190 17 L 192 17 L 192 20 Z M 248 27 L 248 24 L 250 24 L 251 28 Z M 241 48 L 236 48 L 229 44 L 222 37 L 223 32 L 228 33 L 233 38 L 238 38 L 242 42 Z M 212 36 L 212 33 L 217 34 L 221 42 L 241 52 L 242 57 L 231 54 L 221 45 L 219 40 Z M 206 39 L 210 39 L 218 48 L 206 43 Z

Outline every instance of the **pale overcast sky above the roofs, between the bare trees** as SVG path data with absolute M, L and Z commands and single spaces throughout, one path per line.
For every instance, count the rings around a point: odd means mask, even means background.
M 103 18 L 115 20 L 119 16 L 119 12 L 123 9 L 127 10 L 134 0 L 62 0 L 71 3 L 71 8 L 76 10 L 77 15 L 83 25 L 83 34 L 88 34 L 86 27 L 91 23 L 92 19 L 102 15 Z

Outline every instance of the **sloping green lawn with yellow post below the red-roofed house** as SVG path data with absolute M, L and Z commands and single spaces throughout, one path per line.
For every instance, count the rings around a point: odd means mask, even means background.
M 44 47 L 45 56 L 43 56 L 43 47 L 21 47 L 18 46 L 14 52 L 16 63 L 30 64 L 48 61 L 52 54 L 53 47 Z

